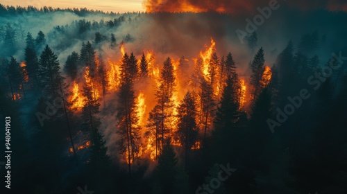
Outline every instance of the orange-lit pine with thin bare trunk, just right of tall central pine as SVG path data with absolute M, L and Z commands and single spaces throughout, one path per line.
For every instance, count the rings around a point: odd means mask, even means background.
M 178 107 L 178 139 L 185 148 L 185 165 L 189 150 L 196 143 L 198 127 L 196 125 L 196 103 L 194 96 L 188 91 Z

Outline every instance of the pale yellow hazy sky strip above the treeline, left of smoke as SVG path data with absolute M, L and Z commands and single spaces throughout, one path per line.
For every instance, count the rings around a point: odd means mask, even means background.
M 132 12 L 144 11 L 143 0 L 0 0 L 0 3 L 7 6 L 51 6 L 55 8 L 88 8 L 93 10 L 113 11 L 113 12 Z

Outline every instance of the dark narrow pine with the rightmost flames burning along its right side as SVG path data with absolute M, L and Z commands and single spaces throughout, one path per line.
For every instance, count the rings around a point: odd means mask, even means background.
M 251 63 L 251 85 L 253 87 L 253 99 L 257 98 L 262 91 L 262 84 L 260 81 L 262 80 L 262 74 L 264 73 L 264 62 L 264 50 L 261 47 L 257 54 L 255 54 L 253 62 Z

